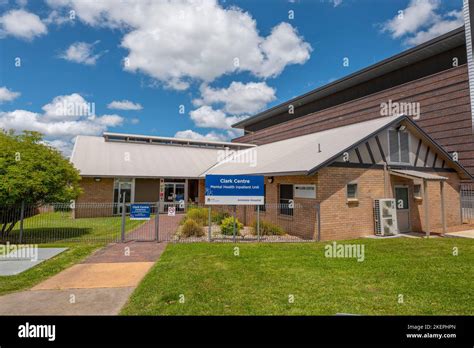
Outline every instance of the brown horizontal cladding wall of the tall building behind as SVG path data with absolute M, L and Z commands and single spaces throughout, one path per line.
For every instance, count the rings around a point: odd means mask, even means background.
M 371 94 L 328 109 L 277 124 L 235 139 L 266 144 L 381 117 L 381 104 L 420 103 L 416 120 L 435 141 L 474 173 L 474 138 L 467 65 L 451 68 L 415 81 Z

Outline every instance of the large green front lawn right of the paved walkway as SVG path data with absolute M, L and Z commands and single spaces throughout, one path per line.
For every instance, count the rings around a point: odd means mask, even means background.
M 364 244 L 365 260 L 326 258 L 327 243 L 170 244 L 122 314 L 474 314 L 474 240 L 344 243 Z

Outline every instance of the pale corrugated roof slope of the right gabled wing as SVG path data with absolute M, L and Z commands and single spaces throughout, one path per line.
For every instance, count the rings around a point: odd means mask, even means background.
M 380 117 L 260 145 L 229 157 L 203 174 L 306 174 L 367 136 L 402 118 L 403 116 Z M 252 159 L 249 152 L 254 152 L 253 158 L 256 158 L 256 161 L 253 163 L 245 161 Z

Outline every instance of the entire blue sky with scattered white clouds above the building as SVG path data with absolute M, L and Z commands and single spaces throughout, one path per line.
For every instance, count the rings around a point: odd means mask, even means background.
M 0 128 L 71 154 L 103 132 L 232 124 L 463 25 L 462 0 L 0 0 Z

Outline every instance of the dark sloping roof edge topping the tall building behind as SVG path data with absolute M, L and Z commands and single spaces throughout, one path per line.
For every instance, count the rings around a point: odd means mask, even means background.
M 391 71 L 395 71 L 404 66 L 411 65 L 415 62 L 422 61 L 438 53 L 460 46 L 465 43 L 465 40 L 466 39 L 464 35 L 464 26 L 462 26 L 458 29 L 452 30 L 444 35 L 438 36 L 430 41 L 427 41 L 421 45 L 403 51 L 395 56 L 384 59 L 367 68 L 345 76 L 339 80 L 316 88 L 296 98 L 290 99 L 289 101 L 274 106 L 257 115 L 237 122 L 233 124 L 232 127 L 244 128 L 246 126 L 265 120 L 288 110 L 288 105 L 290 104 L 294 105 L 295 108 L 302 106 L 314 100 L 356 86 L 360 83 L 385 75 Z

